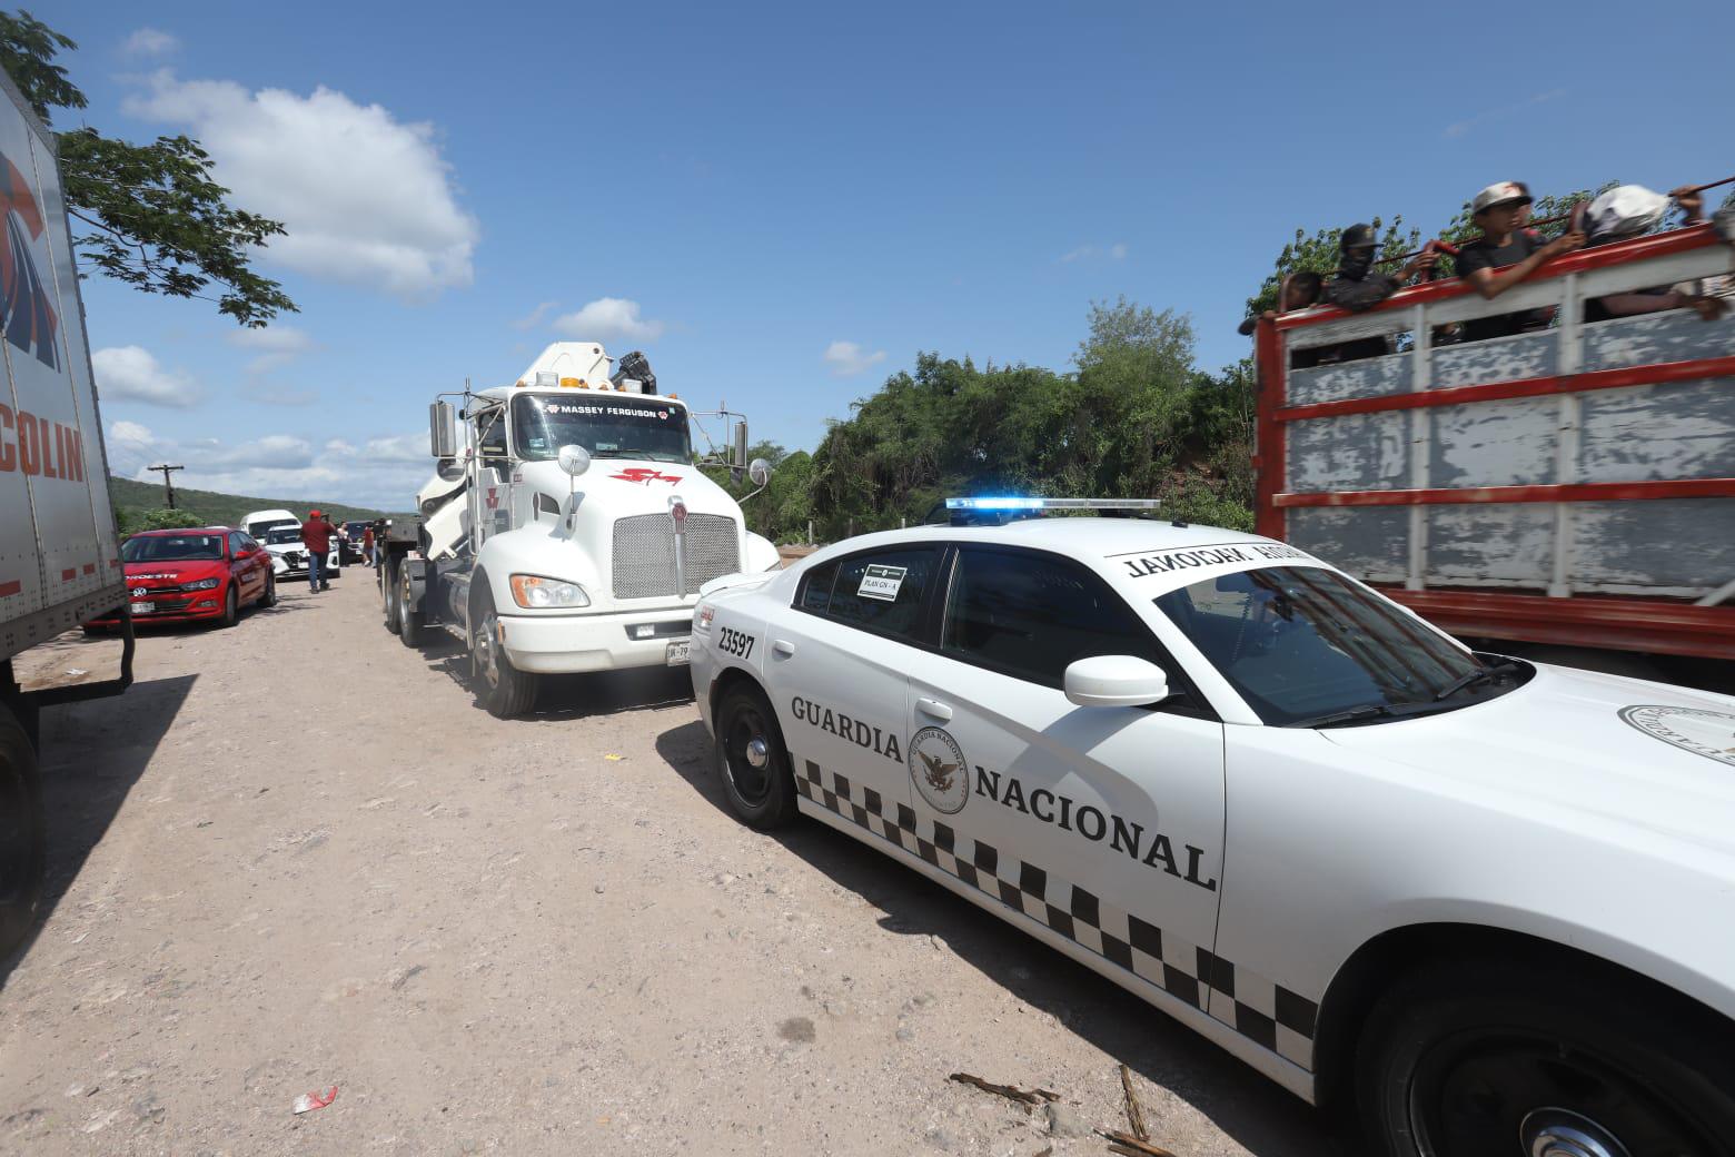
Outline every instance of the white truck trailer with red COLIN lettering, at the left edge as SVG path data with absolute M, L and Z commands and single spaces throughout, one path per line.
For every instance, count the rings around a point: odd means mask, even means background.
M 0 958 L 36 919 L 47 836 L 43 706 L 132 682 L 132 618 L 108 493 L 54 137 L 0 75 Z M 120 678 L 24 690 L 12 661 L 120 607 Z

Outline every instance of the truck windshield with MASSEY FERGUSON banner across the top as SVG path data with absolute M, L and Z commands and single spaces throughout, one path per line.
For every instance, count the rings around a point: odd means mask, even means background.
M 642 395 L 519 394 L 512 439 L 526 461 L 555 458 L 562 446 L 583 446 L 593 458 L 692 461 L 687 411 Z

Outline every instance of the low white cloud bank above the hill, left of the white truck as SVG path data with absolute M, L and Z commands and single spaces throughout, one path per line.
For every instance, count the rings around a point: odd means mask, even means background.
M 146 470 L 174 461 L 186 470 L 177 486 L 224 494 L 252 494 L 297 503 L 344 501 L 378 510 L 409 510 L 416 487 L 432 472 L 427 434 L 387 434 L 359 448 L 345 439 L 314 444 L 295 434 L 267 434 L 241 446 L 217 439 L 177 442 L 137 422 L 115 422 L 108 432 L 109 465 L 116 475 L 149 482 Z

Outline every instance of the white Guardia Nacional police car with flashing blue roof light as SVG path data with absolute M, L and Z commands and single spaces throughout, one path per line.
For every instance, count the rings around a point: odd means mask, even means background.
M 1145 519 L 718 579 L 692 680 L 744 822 L 881 848 L 1372 1152 L 1735 1152 L 1735 699 Z

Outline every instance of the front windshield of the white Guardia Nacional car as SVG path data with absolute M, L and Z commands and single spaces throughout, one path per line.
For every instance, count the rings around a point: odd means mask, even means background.
M 1220 574 L 1156 602 L 1275 727 L 1449 711 L 1496 683 L 1445 635 L 1320 567 Z

